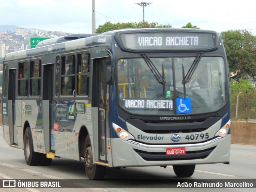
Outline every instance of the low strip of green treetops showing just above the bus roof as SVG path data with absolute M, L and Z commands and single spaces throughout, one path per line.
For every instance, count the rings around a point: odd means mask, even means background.
M 158 25 L 158 23 L 152 22 L 130 22 L 130 23 L 120 23 L 112 24 L 111 22 L 106 22 L 103 25 L 99 25 L 99 27 L 96 29 L 96 33 L 104 33 L 112 30 L 120 30 L 120 29 L 126 29 L 126 28 L 172 28 L 170 24 L 168 25 Z

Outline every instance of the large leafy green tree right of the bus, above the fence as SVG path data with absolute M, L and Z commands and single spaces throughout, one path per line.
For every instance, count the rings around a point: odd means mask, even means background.
M 256 80 L 256 37 L 246 30 L 228 30 L 220 34 L 226 49 L 231 79 L 248 76 Z

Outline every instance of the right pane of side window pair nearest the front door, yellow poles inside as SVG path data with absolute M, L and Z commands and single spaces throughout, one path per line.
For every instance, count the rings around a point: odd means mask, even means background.
M 89 53 L 78 54 L 77 94 L 88 95 L 90 62 Z

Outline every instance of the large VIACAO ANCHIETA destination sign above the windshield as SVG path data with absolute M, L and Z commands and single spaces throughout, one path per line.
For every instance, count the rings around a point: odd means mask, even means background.
M 122 34 L 121 41 L 132 50 L 212 49 L 217 44 L 215 33 L 191 32 Z

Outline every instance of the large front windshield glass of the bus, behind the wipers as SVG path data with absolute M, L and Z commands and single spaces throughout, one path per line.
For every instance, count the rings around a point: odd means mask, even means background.
M 184 85 L 182 74 L 186 76 L 194 59 L 150 58 L 165 84 L 159 83 L 156 71 L 150 70 L 143 58 L 120 59 L 117 72 L 120 105 L 140 115 L 194 114 L 220 109 L 226 98 L 223 58 L 202 57 Z

